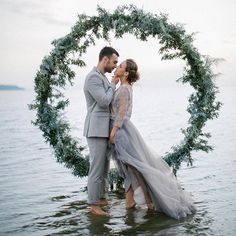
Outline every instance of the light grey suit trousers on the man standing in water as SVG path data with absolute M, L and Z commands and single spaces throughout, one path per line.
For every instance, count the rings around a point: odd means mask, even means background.
M 100 198 L 107 197 L 109 147 L 108 138 L 87 137 L 90 152 L 88 174 L 88 204 L 97 204 Z

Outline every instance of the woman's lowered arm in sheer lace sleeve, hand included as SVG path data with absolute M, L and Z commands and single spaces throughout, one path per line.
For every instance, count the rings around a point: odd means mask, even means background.
M 119 107 L 118 107 L 118 112 L 115 116 L 113 128 L 110 133 L 110 142 L 115 143 L 115 135 L 116 132 L 122 127 L 127 110 L 129 108 L 129 102 L 130 102 L 130 92 L 128 88 L 123 87 L 121 88 L 119 94 L 117 95 L 117 99 L 119 99 Z

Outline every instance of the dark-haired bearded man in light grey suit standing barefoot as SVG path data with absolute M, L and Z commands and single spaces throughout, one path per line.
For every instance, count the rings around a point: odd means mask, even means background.
M 105 73 L 111 73 L 118 63 L 118 52 L 112 47 L 104 47 L 99 53 L 97 67 L 87 75 L 84 94 L 87 104 L 87 116 L 84 124 L 84 136 L 87 138 L 90 153 L 88 174 L 88 204 L 96 215 L 108 215 L 101 206 L 107 205 L 106 185 L 109 168 L 108 142 L 110 108 L 118 78 L 111 83 Z

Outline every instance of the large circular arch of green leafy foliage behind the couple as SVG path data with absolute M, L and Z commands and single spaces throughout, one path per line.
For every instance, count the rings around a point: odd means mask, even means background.
M 166 15 L 153 15 L 133 5 L 120 6 L 113 13 L 100 7 L 97 11 L 97 16 L 79 15 L 71 32 L 52 42 L 54 48 L 43 59 L 35 77 L 36 98 L 30 105 L 30 109 L 37 112 L 33 123 L 54 148 L 57 161 L 72 169 L 76 176 L 83 177 L 88 173 L 89 161 L 82 154 L 84 148 L 71 137 L 69 123 L 62 119 L 62 111 L 69 101 L 61 91 L 66 84 L 73 84 L 75 73 L 70 65 L 85 66 L 80 59 L 82 54 L 95 44 L 95 39 L 109 41 L 110 31 L 115 38 L 121 38 L 125 33 L 142 41 L 147 41 L 150 36 L 157 38 L 163 60 L 181 58 L 186 63 L 179 81 L 194 88 L 187 108 L 189 126 L 181 130 L 184 138 L 180 144 L 173 146 L 163 157 L 174 172 L 183 160 L 192 164 L 192 151 L 212 150 L 207 141 L 210 134 L 203 133 L 202 128 L 208 119 L 218 116 L 221 106 L 215 100 L 218 89 L 211 70 L 215 60 L 200 55 L 192 44 L 192 35 L 186 34 L 182 25 L 169 23 Z M 76 58 L 74 53 L 79 56 Z

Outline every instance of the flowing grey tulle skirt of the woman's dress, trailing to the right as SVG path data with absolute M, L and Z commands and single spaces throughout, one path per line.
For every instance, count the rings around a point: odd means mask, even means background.
M 125 190 L 132 186 L 135 191 L 145 185 L 142 190 L 147 191 L 155 210 L 175 219 L 196 211 L 169 165 L 146 145 L 130 120 L 125 120 L 116 133 L 113 159 L 124 178 Z

